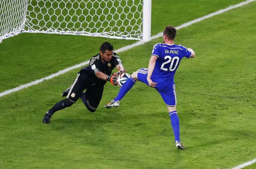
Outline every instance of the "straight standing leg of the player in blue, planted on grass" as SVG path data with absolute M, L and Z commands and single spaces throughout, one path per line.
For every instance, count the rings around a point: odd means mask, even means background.
M 175 137 L 175 145 L 179 149 L 184 149 L 184 145 L 181 143 L 180 140 L 180 129 L 179 129 L 179 117 L 177 115 L 177 110 L 176 110 L 176 91 L 175 91 L 175 84 L 173 86 L 170 86 L 170 88 L 163 88 L 157 89 L 160 95 L 162 96 L 164 103 L 167 106 L 171 124 L 172 124 L 172 129 L 173 129 L 173 134 Z

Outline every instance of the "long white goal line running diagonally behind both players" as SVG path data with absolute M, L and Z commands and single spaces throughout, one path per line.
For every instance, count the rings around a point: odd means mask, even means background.
M 197 19 L 195 19 L 195 20 L 193 20 L 193 21 L 184 23 L 184 24 L 182 24 L 182 25 L 176 27 L 176 29 L 178 30 L 178 29 L 187 27 L 187 26 L 192 25 L 192 24 L 194 24 L 194 23 L 200 22 L 200 21 L 202 21 L 202 20 L 204 20 L 204 19 L 207 19 L 207 18 L 213 17 L 213 16 L 215 16 L 215 15 L 224 13 L 224 12 L 229 11 L 229 10 L 234 9 L 234 8 L 241 7 L 241 6 L 243 6 L 243 5 L 246 5 L 246 4 L 248 4 L 248 3 L 250 3 L 250 2 L 254 2 L 254 1 L 256 1 L 256 0 L 248 0 L 248 1 L 244 1 L 244 2 L 241 2 L 241 3 L 239 3 L 239 4 L 236 4 L 236 5 L 234 5 L 234 6 L 230 6 L 230 7 L 227 7 L 227 8 L 225 8 L 225 9 L 221 9 L 221 10 L 219 10 L 219 11 L 216 11 L 216 12 L 214 12 L 214 13 L 210 13 L 210 14 L 208 14 L 208 15 L 206 15 L 206 16 L 201 17 L 201 18 L 197 18 Z M 157 35 L 152 36 L 152 37 L 151 37 L 151 40 L 156 39 L 156 38 L 159 38 L 159 37 L 161 37 L 161 36 L 162 36 L 162 32 L 158 33 Z M 128 49 L 131 49 L 131 48 L 133 48 L 133 47 L 142 45 L 142 44 L 144 44 L 144 43 L 146 43 L 146 42 L 144 42 L 144 41 L 139 41 L 139 42 L 136 42 L 136 43 L 134 43 L 134 44 L 128 45 L 128 46 L 126 46 L 126 47 L 117 49 L 115 52 L 116 52 L 116 53 L 123 52 L 123 51 L 128 50 Z M 82 66 L 84 66 L 84 65 L 86 65 L 86 64 L 88 64 L 88 63 L 89 63 L 89 60 L 87 60 L 86 62 L 77 64 L 77 65 L 74 65 L 74 66 L 72 66 L 72 67 L 69 67 L 69 68 L 60 70 L 60 71 L 58 71 L 57 73 L 51 74 L 51 75 L 46 76 L 46 77 L 44 77 L 44 78 L 42 78 L 42 79 L 38 79 L 38 80 L 32 81 L 32 82 L 30 82 L 30 83 L 23 84 L 23 85 L 21 85 L 21 86 L 18 86 L 17 88 L 13 88 L 13 89 L 10 89 L 10 90 L 6 90 L 6 91 L 0 93 L 0 97 L 2 97 L 2 96 L 4 96 L 4 95 L 7 95 L 7 94 L 10 94 L 10 93 L 13 93 L 13 92 L 15 92 L 15 91 L 19 91 L 19 90 L 21 90 L 21 89 L 27 88 L 27 87 L 29 87 L 29 86 L 36 85 L 36 84 L 38 84 L 38 83 L 41 83 L 41 82 L 44 81 L 44 80 L 52 79 L 52 78 L 54 78 L 54 77 L 56 77 L 56 76 L 59 76 L 59 75 L 61 75 L 61 74 L 66 73 L 66 72 L 68 72 L 68 71 L 70 71 L 70 70 L 73 70 L 73 69 L 82 67 Z

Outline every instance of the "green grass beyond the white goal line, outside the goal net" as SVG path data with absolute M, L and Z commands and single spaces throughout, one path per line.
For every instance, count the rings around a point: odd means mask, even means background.
M 47 2 L 49 3 L 49 1 Z M 200 0 L 192 3 L 183 0 L 180 4 L 176 4 L 175 1 L 166 4 L 160 0 L 152 1 L 151 34 L 155 35 L 163 31 L 166 25 L 178 26 L 242 1 L 218 0 L 215 1 L 214 7 L 209 5 L 213 3 L 210 2 L 210 0 Z M 189 6 L 181 4 L 189 4 Z M 162 17 L 162 14 L 167 13 L 169 9 L 172 9 L 174 15 Z M 1 69 L 5 70 L 0 74 L 2 82 L 0 83 L 0 92 L 84 62 L 96 54 L 99 46 L 106 40 L 110 41 L 115 49 L 136 42 L 135 40 L 31 33 L 22 33 L 15 38 L 4 40 L 0 44 L 0 65 Z

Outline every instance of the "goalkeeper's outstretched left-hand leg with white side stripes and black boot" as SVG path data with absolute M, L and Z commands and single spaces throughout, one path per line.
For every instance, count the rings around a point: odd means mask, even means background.
M 84 90 L 84 83 L 83 79 L 80 78 L 80 74 L 77 74 L 77 78 L 74 80 L 73 84 L 71 85 L 67 98 L 64 100 L 60 100 L 56 103 L 51 109 L 49 109 L 43 118 L 43 123 L 49 123 L 51 116 L 59 110 L 62 110 L 66 107 L 72 106 L 81 96 L 81 93 Z

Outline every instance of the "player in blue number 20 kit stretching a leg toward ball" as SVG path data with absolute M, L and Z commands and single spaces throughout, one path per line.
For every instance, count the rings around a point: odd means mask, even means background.
M 163 31 L 164 43 L 157 43 L 153 47 L 148 69 L 141 68 L 132 73 L 131 77 L 122 85 L 116 98 L 105 107 L 118 107 L 120 100 L 136 81 L 142 81 L 157 89 L 162 96 L 170 115 L 175 145 L 179 149 L 184 149 L 179 137 L 179 118 L 176 110 L 176 90 L 173 78 L 181 59 L 183 57 L 194 58 L 196 54 L 193 49 L 174 44 L 175 37 L 176 29 L 173 26 L 167 26 Z

